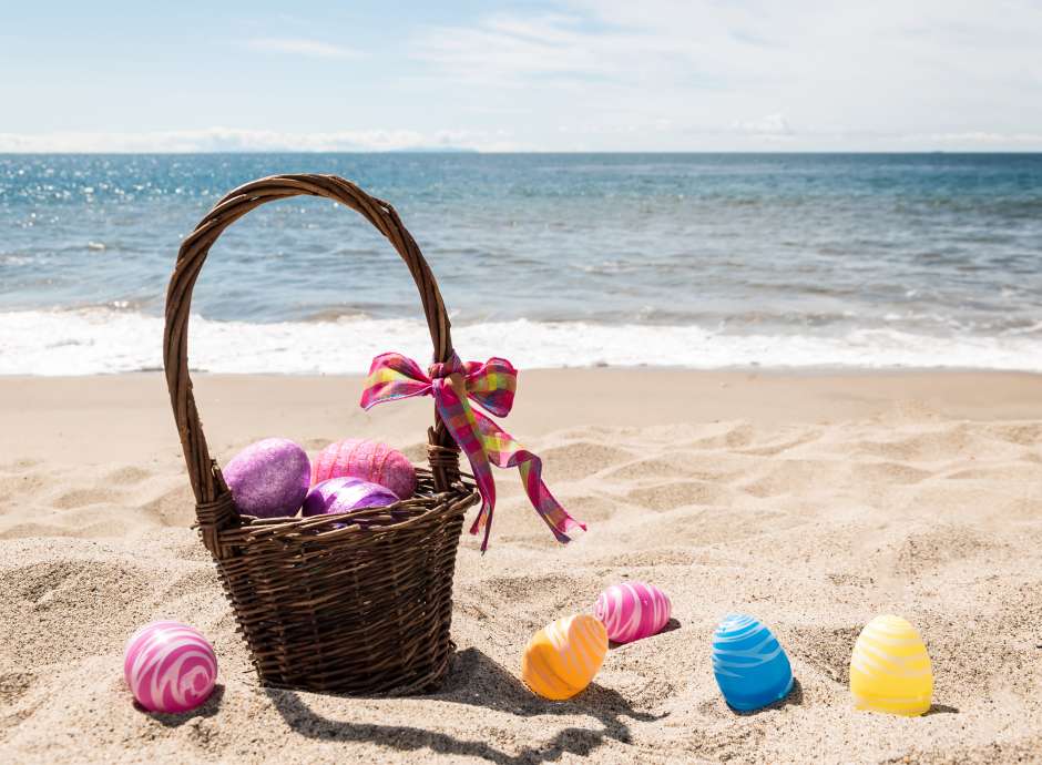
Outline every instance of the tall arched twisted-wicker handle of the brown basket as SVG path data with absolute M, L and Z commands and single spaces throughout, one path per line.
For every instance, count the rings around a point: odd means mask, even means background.
M 188 375 L 188 313 L 192 288 L 206 255 L 217 237 L 243 215 L 266 202 L 306 194 L 339 202 L 360 213 L 388 238 L 409 267 L 427 315 L 427 326 L 435 346 L 435 360 L 447 361 L 452 355 L 449 317 L 435 275 L 423 259 L 416 239 L 402 225 L 398 213 L 387 202 L 370 196 L 350 181 L 335 175 L 272 175 L 229 192 L 185 238 L 177 253 L 177 264 L 166 290 L 166 328 L 163 335 L 163 364 L 174 419 L 184 449 L 188 478 L 195 492 L 196 511 L 203 541 L 216 552 L 216 531 L 238 522 L 231 492 L 211 458 L 206 437 L 195 408 L 192 378 Z M 445 491 L 459 480 L 459 458 L 452 437 L 435 412 L 435 427 L 428 431 L 428 457 L 435 487 Z

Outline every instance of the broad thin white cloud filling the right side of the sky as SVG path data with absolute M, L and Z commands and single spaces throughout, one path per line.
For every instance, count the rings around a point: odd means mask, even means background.
M 409 50 L 429 88 L 466 88 L 488 110 L 525 104 L 546 149 L 1040 145 L 1042 7 L 1023 0 L 564 0 L 558 11 L 427 27 Z M 663 122 L 673 130 L 648 129 Z

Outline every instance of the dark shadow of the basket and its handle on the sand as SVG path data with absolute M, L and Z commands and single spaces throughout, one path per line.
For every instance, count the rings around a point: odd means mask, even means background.
M 635 711 L 617 692 L 591 684 L 566 702 L 535 696 L 513 675 L 477 649 L 458 653 L 441 688 L 426 698 L 450 704 L 483 706 L 522 717 L 535 715 L 589 715 L 602 727 L 562 727 L 538 747 L 509 754 L 483 741 L 470 741 L 410 725 L 380 725 L 329 720 L 313 712 L 295 691 L 265 688 L 286 724 L 300 735 L 339 742 L 379 743 L 403 752 L 430 749 L 437 754 L 479 757 L 497 765 L 521 765 L 558 761 L 564 754 L 586 756 L 607 740 L 631 740 L 625 717 L 640 722 L 661 720 Z

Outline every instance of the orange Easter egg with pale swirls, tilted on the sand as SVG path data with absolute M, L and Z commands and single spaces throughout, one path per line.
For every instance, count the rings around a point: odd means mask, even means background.
M 607 632 L 590 614 L 565 616 L 535 633 L 521 659 L 521 680 L 544 698 L 563 701 L 585 688 L 607 653 Z

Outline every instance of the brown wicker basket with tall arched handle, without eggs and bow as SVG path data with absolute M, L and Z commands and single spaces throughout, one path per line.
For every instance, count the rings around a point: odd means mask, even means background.
M 347 205 L 390 241 L 419 288 L 435 359 L 452 355 L 438 285 L 389 204 L 331 175 L 276 175 L 231 192 L 181 246 L 166 295 L 166 382 L 200 533 L 262 683 L 348 694 L 427 691 L 445 675 L 453 650 L 456 550 L 463 514 L 478 501 L 437 415 L 428 430 L 430 469 L 418 469 L 411 499 L 349 517 L 257 519 L 236 510 L 195 408 L 187 327 L 200 268 L 232 223 L 265 202 L 299 194 Z

